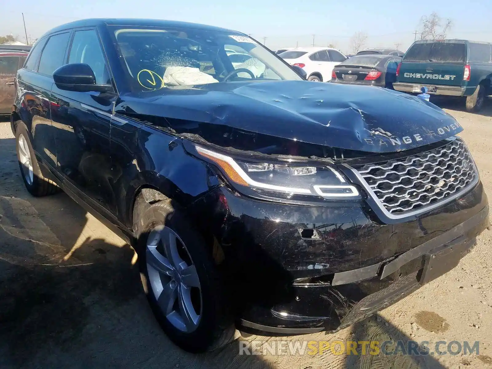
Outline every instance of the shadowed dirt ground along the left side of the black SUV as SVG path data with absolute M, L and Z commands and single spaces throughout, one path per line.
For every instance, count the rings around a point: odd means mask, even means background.
M 0 139 L 0 367 L 265 368 L 237 345 L 176 347 L 148 306 L 133 249 L 66 194 L 32 197 Z

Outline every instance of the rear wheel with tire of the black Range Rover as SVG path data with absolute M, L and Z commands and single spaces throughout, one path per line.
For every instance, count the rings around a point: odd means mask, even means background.
M 44 178 L 41 173 L 26 125 L 18 122 L 15 133 L 19 168 L 29 193 L 33 196 L 46 196 L 59 192 L 60 188 L 53 181 Z

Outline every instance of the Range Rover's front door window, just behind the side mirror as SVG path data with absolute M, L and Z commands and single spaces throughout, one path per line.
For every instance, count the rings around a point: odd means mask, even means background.
M 76 31 L 73 36 L 72 47 L 68 55 L 68 64 L 88 64 L 95 76 L 98 85 L 110 85 L 111 79 L 106 68 L 99 38 L 94 30 Z

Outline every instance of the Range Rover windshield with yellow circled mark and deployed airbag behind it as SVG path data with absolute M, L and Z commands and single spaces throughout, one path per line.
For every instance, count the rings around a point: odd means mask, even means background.
M 247 80 L 301 80 L 253 39 L 202 29 L 114 27 L 136 89 Z

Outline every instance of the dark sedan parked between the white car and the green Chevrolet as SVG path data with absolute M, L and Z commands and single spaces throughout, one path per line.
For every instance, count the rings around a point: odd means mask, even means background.
M 356 55 L 335 66 L 332 82 L 393 89 L 400 61 L 389 55 Z

